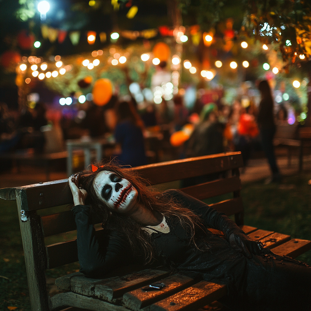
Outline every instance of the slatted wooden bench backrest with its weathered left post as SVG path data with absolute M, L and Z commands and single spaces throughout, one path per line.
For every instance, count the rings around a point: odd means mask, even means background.
M 151 185 L 221 173 L 223 178 L 182 188 L 180 190 L 200 200 L 233 193 L 232 198 L 216 202 L 213 207 L 226 215 L 235 215 L 237 225 L 243 225 L 243 205 L 240 197 L 239 167 L 243 166 L 240 152 L 227 152 L 211 156 L 188 158 L 131 168 Z M 28 285 L 33 310 L 48 310 L 45 290 L 46 269 L 78 261 L 77 240 L 44 245 L 44 237 L 76 230 L 70 207 L 67 211 L 39 216 L 37 211 L 72 204 L 67 179 L 39 183 L 24 187 L 0 189 L 0 197 L 15 200 L 19 212 Z M 24 211 L 24 212 L 21 212 Z M 100 219 L 93 219 L 93 224 Z

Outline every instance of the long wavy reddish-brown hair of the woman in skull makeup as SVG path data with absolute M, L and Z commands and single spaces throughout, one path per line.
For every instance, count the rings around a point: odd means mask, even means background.
M 171 195 L 163 195 L 159 191 L 148 187 L 148 181 L 142 179 L 135 171 L 122 168 L 112 162 L 96 165 L 98 169 L 93 171 L 82 171 L 79 173 L 79 183 L 87 191 L 86 203 L 91 206 L 92 215 L 102 217 L 103 227 L 108 230 L 117 231 L 120 236 L 128 242 L 133 254 L 142 256 L 147 264 L 155 258 L 155 249 L 150 239 L 150 234 L 143 229 L 142 225 L 132 220 L 126 214 L 120 214 L 108 209 L 108 206 L 98 197 L 94 180 L 97 174 L 102 171 L 113 172 L 120 177 L 127 179 L 138 192 L 137 202 L 146 208 L 166 216 L 175 216 L 183 228 L 187 230 L 190 243 L 197 247 L 195 242 L 196 231 L 202 232 L 202 220 L 188 208 Z

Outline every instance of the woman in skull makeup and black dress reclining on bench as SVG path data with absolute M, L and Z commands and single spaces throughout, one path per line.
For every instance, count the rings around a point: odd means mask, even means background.
M 102 278 L 130 263 L 162 265 L 226 284 L 221 302 L 230 309 L 310 310 L 307 264 L 263 248 L 225 214 L 179 190 L 152 191 L 111 163 L 92 167 L 69 178 L 86 276 Z M 95 236 L 91 213 L 103 217 L 103 239 Z

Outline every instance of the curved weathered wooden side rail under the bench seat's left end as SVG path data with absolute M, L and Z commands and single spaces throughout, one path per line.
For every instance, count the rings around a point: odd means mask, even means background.
M 128 311 L 123 306 L 117 306 L 107 301 L 79 295 L 73 292 L 54 295 L 50 300 L 50 310 L 59 310 L 61 307 L 75 307 L 92 311 Z

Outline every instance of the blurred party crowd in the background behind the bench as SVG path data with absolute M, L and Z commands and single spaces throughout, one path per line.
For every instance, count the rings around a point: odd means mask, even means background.
M 67 139 L 105 138 L 114 144 L 109 156 L 123 165 L 241 151 L 244 165 L 253 151 L 263 150 L 273 177 L 279 178 L 272 140 L 278 124 L 287 124 L 287 109 L 274 101 L 267 81 L 259 83 L 260 104 L 242 98 L 231 104 L 216 96 L 197 96 L 191 109 L 182 94 L 160 104 L 137 105 L 128 95 L 114 95 L 108 104 L 91 101 L 61 109 L 36 103 L 20 112 L 0 105 L 0 154 L 33 150 L 52 153 L 65 150 Z M 165 157 L 169 153 L 168 157 Z

